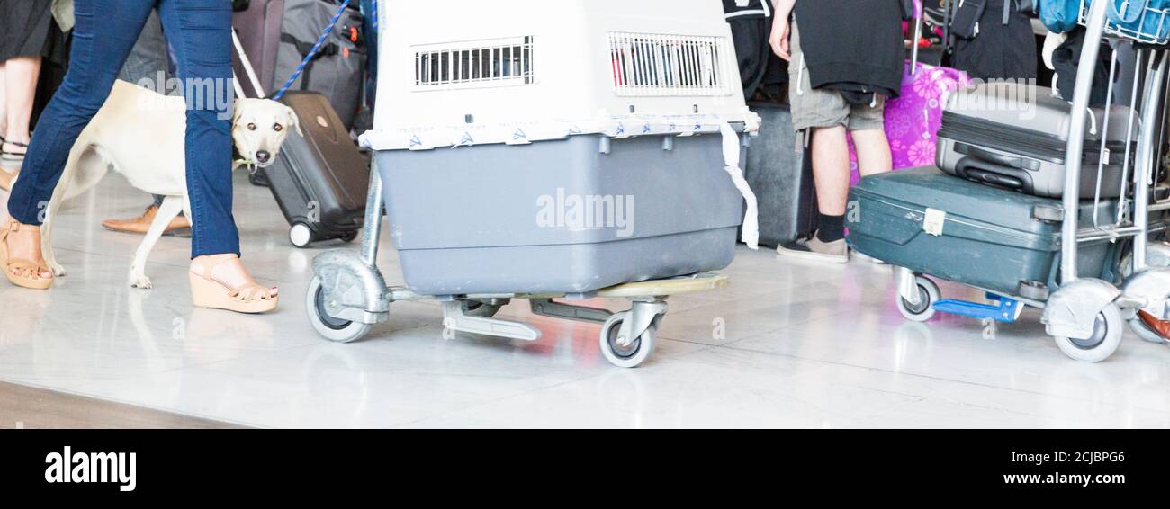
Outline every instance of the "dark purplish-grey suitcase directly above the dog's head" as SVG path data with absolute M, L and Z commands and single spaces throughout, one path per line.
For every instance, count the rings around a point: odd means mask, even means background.
M 281 27 L 284 21 L 284 0 L 252 0 L 248 8 L 234 14 L 233 22 L 240 35 L 240 44 L 248 54 L 263 91 L 254 90 L 249 80 L 240 83 L 249 97 L 264 97 L 274 90 L 276 81 L 276 53 L 281 46 Z M 240 59 L 235 59 L 236 76 L 245 76 Z M 288 76 L 284 77 L 288 80 Z

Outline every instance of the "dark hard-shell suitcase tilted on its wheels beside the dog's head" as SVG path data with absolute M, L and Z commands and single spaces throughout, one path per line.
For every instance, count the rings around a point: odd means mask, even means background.
M 365 215 L 369 160 L 329 98 L 290 91 L 281 102 L 296 111 L 304 136 L 290 132 L 276 161 L 262 172 L 291 225 L 289 241 L 305 247 L 323 240 L 353 240 Z

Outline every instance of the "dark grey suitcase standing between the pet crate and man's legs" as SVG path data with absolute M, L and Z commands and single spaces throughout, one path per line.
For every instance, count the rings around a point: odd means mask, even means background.
M 776 247 L 817 229 L 812 158 L 797 150 L 789 106 L 751 103 L 759 136 L 751 139 L 744 177 L 759 206 L 759 243 Z

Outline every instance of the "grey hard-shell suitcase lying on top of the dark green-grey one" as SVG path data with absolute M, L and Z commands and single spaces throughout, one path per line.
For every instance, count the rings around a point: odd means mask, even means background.
M 997 82 L 962 90 L 951 95 L 943 114 L 937 165 L 983 184 L 1060 198 L 1071 110 L 1067 102 L 1052 96 L 1051 89 L 1025 83 Z M 1103 108 L 1092 108 L 1088 117 L 1080 195 L 1096 195 L 1100 181 L 1101 197 L 1117 198 L 1124 154 L 1136 152 L 1137 116 L 1130 116 L 1129 108 L 1115 105 L 1108 114 Z M 1133 139 L 1128 152 L 1127 139 Z M 1102 159 L 1104 165 L 1100 167 Z

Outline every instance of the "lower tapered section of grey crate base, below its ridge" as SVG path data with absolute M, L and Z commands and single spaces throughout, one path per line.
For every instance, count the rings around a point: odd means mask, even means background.
M 735 246 L 736 228 L 604 243 L 399 252 L 406 284 L 425 295 L 589 293 L 627 282 L 720 270 L 696 257 L 710 246 Z

